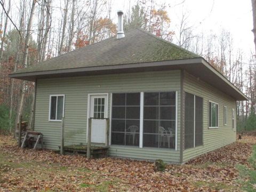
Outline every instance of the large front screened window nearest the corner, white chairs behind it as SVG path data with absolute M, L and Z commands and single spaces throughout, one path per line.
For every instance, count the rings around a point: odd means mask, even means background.
M 144 93 L 143 146 L 175 148 L 175 92 Z

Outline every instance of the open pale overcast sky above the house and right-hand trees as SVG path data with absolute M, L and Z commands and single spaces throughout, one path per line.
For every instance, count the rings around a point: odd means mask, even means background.
M 117 10 L 128 10 L 137 0 L 113 0 L 113 19 L 117 22 Z M 221 29 L 230 31 L 234 39 L 234 47 L 241 48 L 244 57 L 249 58 L 254 51 L 253 22 L 251 0 L 158 0 L 166 3 L 171 19 L 171 27 L 179 25 L 182 12 L 189 15 L 188 22 L 193 26 L 195 34 L 220 33 Z

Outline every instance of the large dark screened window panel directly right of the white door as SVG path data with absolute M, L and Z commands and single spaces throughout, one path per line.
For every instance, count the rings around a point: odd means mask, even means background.
M 139 146 L 140 93 L 113 93 L 111 144 Z

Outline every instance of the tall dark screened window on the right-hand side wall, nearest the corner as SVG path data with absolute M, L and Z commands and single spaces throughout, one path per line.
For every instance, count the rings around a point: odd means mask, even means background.
M 185 93 L 185 149 L 203 145 L 203 98 Z

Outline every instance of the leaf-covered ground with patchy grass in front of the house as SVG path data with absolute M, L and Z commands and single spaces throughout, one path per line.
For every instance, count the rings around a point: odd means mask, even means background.
M 185 165 L 20 149 L 0 135 L 0 191 L 255 191 L 256 134 Z

